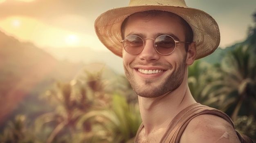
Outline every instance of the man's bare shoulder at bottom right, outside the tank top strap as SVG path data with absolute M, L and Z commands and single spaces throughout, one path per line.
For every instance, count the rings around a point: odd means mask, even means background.
M 192 119 L 184 130 L 180 143 L 240 143 L 232 125 L 211 114 Z

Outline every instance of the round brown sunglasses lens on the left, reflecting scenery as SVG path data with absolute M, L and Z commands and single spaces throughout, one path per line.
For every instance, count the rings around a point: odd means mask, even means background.
M 143 44 L 141 37 L 136 35 L 128 35 L 123 41 L 124 50 L 134 55 L 142 51 Z

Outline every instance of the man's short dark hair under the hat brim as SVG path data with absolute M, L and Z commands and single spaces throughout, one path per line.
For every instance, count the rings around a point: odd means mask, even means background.
M 157 15 L 160 15 L 161 13 L 163 12 L 168 12 L 168 11 L 160 11 L 160 10 L 149 10 L 149 11 L 142 11 L 142 12 L 138 12 L 138 13 L 141 13 L 141 14 L 144 14 L 145 16 L 147 15 L 151 15 L 152 17 L 155 17 Z M 191 29 L 191 26 L 188 24 L 188 22 L 186 22 L 186 20 L 184 20 L 182 17 L 180 17 L 179 15 L 175 14 L 175 13 L 171 13 L 171 12 L 168 12 L 170 14 L 170 16 L 177 16 L 178 18 L 180 18 L 180 22 L 184 28 L 184 31 L 185 31 L 185 41 L 186 42 L 189 42 L 189 43 L 185 43 L 185 50 L 186 52 L 188 51 L 188 47 L 189 47 L 189 44 L 193 42 L 193 31 Z M 135 14 L 135 13 L 133 13 Z M 133 15 L 132 14 L 132 15 Z M 130 15 L 131 16 L 131 15 Z M 122 32 L 122 38 L 124 38 L 124 27 L 126 26 L 126 23 L 127 23 L 127 20 L 128 18 L 130 17 L 128 16 L 124 22 L 122 23 L 121 25 L 121 32 Z

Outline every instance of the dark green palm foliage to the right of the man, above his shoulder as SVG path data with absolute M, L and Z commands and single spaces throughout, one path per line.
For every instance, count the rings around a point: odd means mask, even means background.
M 252 44 L 239 44 L 219 64 L 195 61 L 188 84 L 195 100 L 218 108 L 235 121 L 238 130 L 256 139 L 256 54 Z

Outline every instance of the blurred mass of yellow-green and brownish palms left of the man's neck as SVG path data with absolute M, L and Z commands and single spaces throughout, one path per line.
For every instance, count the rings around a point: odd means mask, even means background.
M 34 134 L 39 141 L 124 143 L 135 136 L 141 123 L 138 105 L 110 92 L 110 85 L 119 83 L 106 82 L 103 71 L 84 70 L 79 79 L 47 90 L 45 99 L 56 110 L 36 119 Z

